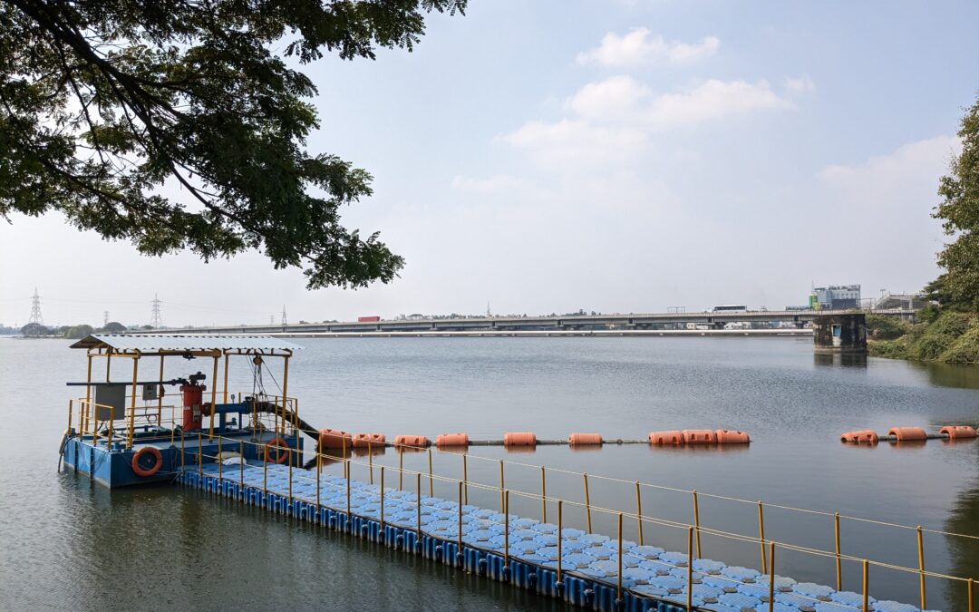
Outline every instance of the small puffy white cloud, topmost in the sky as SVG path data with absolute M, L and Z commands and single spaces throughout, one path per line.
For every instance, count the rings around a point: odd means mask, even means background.
M 651 36 L 645 27 L 637 27 L 620 36 L 609 32 L 594 49 L 578 54 L 578 63 L 624 67 L 643 64 L 685 64 L 709 58 L 721 48 L 721 39 L 707 36 L 699 43 L 667 41 Z

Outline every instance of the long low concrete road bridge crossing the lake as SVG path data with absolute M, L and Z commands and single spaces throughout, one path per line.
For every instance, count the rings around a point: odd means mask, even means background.
M 396 334 L 438 332 L 575 332 L 575 331 L 653 331 L 685 329 L 688 323 L 721 330 L 727 323 L 791 323 L 802 329 L 817 314 L 842 314 L 852 310 L 742 310 L 719 312 L 647 312 L 629 314 L 555 315 L 555 316 L 488 316 L 466 318 L 414 318 L 380 321 L 342 321 L 324 323 L 289 323 L 285 325 L 234 325 L 152 330 L 198 334 Z M 868 312 L 911 319 L 909 308 L 877 309 Z

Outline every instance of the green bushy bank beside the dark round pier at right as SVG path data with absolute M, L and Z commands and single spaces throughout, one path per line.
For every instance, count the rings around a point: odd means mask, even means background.
M 879 357 L 944 363 L 979 363 L 979 315 L 969 312 L 921 312 L 911 324 L 886 316 L 867 315 L 869 352 Z

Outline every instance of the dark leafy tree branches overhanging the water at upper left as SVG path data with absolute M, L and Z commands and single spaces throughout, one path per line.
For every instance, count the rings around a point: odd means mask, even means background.
M 389 282 L 403 260 L 340 222 L 371 176 L 306 152 L 316 87 L 287 61 L 410 51 L 466 1 L 2 0 L 0 216 L 62 212 L 152 256 L 258 249 L 309 288 Z

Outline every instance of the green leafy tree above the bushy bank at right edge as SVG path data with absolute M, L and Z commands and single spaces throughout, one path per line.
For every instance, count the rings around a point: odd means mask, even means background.
M 935 211 L 956 239 L 939 254 L 946 271 L 927 291 L 942 306 L 979 311 L 979 100 L 966 111 L 958 136 L 962 152 L 941 179 L 943 202 Z

